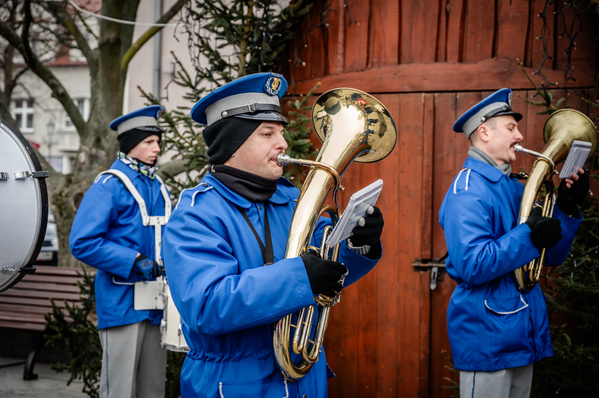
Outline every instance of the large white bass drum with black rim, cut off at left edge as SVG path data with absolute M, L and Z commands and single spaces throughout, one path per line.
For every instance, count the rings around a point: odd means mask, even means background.
M 35 271 L 48 223 L 48 190 L 29 142 L 0 119 L 0 292 Z

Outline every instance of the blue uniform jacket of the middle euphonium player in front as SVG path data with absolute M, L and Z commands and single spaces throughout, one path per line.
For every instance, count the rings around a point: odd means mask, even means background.
M 181 397 L 327 396 L 324 353 L 298 382 L 285 381 L 274 360 L 270 324 L 314 304 L 301 258 L 283 258 L 298 194 L 281 178 L 268 202 L 251 203 L 210 174 L 181 193 L 162 245 L 190 348 L 181 370 Z M 264 266 L 258 242 L 235 205 L 246 209 L 263 242 L 267 206 L 273 265 Z M 317 225 L 318 246 L 327 221 L 321 218 Z M 346 286 L 377 263 L 345 244 L 339 261 L 349 269 Z

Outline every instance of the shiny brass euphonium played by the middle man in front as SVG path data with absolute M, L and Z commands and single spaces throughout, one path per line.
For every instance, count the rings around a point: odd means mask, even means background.
M 280 166 L 290 163 L 310 166 L 291 220 L 285 258 L 298 257 L 314 250 L 322 259 L 337 261 L 339 245 L 326 245 L 332 227 L 325 227 L 320 247 L 310 243 L 314 227 L 325 212 L 330 215 L 333 226 L 337 223 L 341 215 L 337 193 L 343 190 L 340 175 L 353 161 L 374 163 L 388 156 L 395 147 L 397 130 L 391 114 L 380 101 L 355 89 L 334 89 L 321 95 L 312 108 L 312 125 L 322 142 L 316 160 L 294 159 L 284 153 L 277 157 Z M 331 191 L 333 205 L 324 205 Z M 293 314 L 274 324 L 274 354 L 277 365 L 288 380 L 301 379 L 318 360 L 331 306 L 339 299 L 340 294 L 314 297 L 318 320 L 313 336 L 310 336 L 315 312 L 313 305 L 299 311 L 295 325 L 291 323 Z M 297 364 L 292 360 L 291 350 L 301 354 Z

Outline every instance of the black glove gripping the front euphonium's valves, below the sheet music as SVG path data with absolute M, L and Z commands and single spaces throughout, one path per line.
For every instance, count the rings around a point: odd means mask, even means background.
M 304 262 L 313 294 L 335 297 L 335 292 L 341 292 L 343 285 L 339 280 L 347 272 L 347 268 L 343 264 L 319 259 L 316 257 L 315 251 L 304 253 L 301 259 Z

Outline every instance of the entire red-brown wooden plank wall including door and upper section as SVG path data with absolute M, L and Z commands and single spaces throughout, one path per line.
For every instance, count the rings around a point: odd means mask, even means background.
M 461 169 L 469 141 L 452 131 L 464 111 L 501 87 L 514 91 L 513 108 L 524 114 L 522 145 L 540 150 L 546 115 L 518 96 L 533 95 L 529 74 L 543 63 L 549 81 L 564 84 L 569 43 L 556 5 L 544 0 L 317 0 L 299 26 L 279 71 L 288 94 L 355 87 L 375 94 L 398 127 L 393 153 L 373 165 L 352 165 L 343 176 L 351 193 L 383 178 L 378 205 L 385 214 L 383 259 L 347 287 L 332 311 L 325 339 L 331 397 L 449 397 L 442 385 L 450 354 L 446 311 L 455 288 L 446 274 L 429 288 L 429 272 L 416 259 L 446 253 L 438 210 Z M 565 14 L 571 21 L 571 11 Z M 543 32 L 547 37 L 546 59 Z M 556 34 L 557 32 L 557 34 Z M 580 97 L 594 98 L 596 68 L 591 20 L 576 37 L 566 104 L 586 113 Z M 540 84 L 539 75 L 534 81 Z M 563 90 L 553 90 L 555 101 Z M 537 98 L 538 99 L 538 98 Z M 314 138 L 314 142 L 317 142 Z M 513 170 L 530 170 L 533 157 L 519 154 Z M 599 190 L 599 184 L 591 186 Z M 454 376 L 455 377 L 455 376 Z

